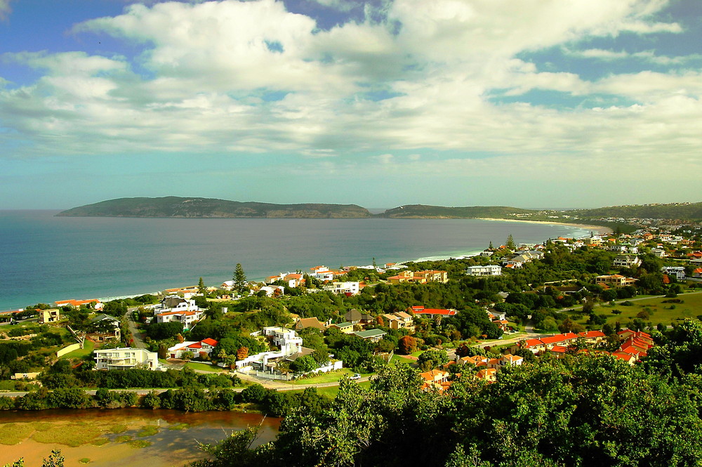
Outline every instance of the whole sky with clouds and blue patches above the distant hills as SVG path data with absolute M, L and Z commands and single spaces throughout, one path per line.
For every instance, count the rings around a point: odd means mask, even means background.
M 0 0 L 0 209 L 700 202 L 699 0 Z

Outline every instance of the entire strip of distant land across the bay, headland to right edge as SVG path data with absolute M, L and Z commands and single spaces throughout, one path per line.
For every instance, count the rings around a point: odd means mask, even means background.
M 622 231 L 656 223 L 687 224 L 702 221 L 702 202 L 607 206 L 597 209 L 522 209 L 512 206 L 430 206 L 407 204 L 383 213 L 357 204 L 272 204 L 201 197 L 119 198 L 86 204 L 56 216 L 147 218 L 402 218 L 505 219 L 600 225 Z

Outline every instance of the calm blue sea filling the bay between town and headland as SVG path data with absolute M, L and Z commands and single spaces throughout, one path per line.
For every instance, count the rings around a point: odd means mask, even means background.
M 171 219 L 0 211 L 0 310 L 219 285 L 312 266 L 475 254 L 490 242 L 541 243 L 590 230 L 477 219 Z

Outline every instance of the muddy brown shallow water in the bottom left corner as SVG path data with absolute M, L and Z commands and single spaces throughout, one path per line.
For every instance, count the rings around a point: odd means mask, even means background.
M 99 426 L 110 442 L 101 446 L 90 443 L 70 447 L 55 442 L 44 443 L 32 439 L 33 435 L 15 445 L 0 444 L 0 466 L 20 458 L 26 467 L 39 467 L 52 449 L 60 449 L 65 457 L 65 467 L 179 467 L 201 459 L 203 453 L 198 442 L 213 443 L 222 440 L 234 430 L 248 426 L 260 426 L 257 444 L 275 438 L 281 419 L 263 417 L 259 414 L 239 412 L 199 412 L 195 414 L 172 410 L 114 409 L 114 410 L 42 410 L 37 412 L 0 412 L 0 429 L 8 423 L 20 424 L 44 422 L 41 428 L 65 427 L 77 430 L 80 423 Z M 182 426 L 185 430 L 169 430 Z M 122 425 L 123 433 L 112 433 L 111 428 Z M 158 433 L 138 436 L 145 426 L 157 426 Z M 37 433 L 37 432 L 35 432 Z M 150 442 L 147 447 L 133 447 L 118 438 L 130 436 L 132 440 Z M 124 438 L 123 438 L 124 439 Z M 83 462 L 81 462 L 81 459 Z M 88 463 L 85 460 L 89 459 Z

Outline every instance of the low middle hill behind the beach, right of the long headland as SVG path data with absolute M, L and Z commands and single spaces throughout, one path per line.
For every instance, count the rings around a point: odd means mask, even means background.
M 466 219 L 466 218 L 509 218 L 513 214 L 537 213 L 530 209 L 512 208 L 508 206 L 465 206 L 450 208 L 445 206 L 427 206 L 425 204 L 409 204 L 388 209 L 376 217 L 388 218 L 434 218 L 434 219 Z

